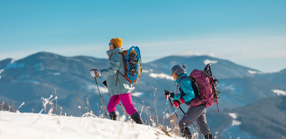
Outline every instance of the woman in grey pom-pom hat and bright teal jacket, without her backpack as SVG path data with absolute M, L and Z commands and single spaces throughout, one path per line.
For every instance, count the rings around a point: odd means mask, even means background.
M 186 74 L 187 65 L 174 65 L 171 69 L 172 76 L 175 80 L 175 83 L 178 84 L 180 93 L 171 92 L 169 95 L 165 94 L 165 98 L 168 99 L 174 98 L 173 105 L 177 108 L 180 104 L 187 104 L 189 109 L 186 112 L 188 118 L 191 121 L 196 121 L 198 127 L 200 128 L 200 132 L 204 135 L 206 139 L 214 139 L 212 134 L 210 133 L 210 129 L 206 124 L 206 106 L 204 104 L 198 106 L 190 106 L 190 102 L 194 100 L 195 97 L 200 97 L 198 95 L 198 89 L 195 84 L 188 78 Z M 183 78 L 183 79 L 182 79 Z M 194 90 L 194 89 L 195 90 Z M 190 120 L 188 120 L 185 116 L 179 122 L 180 130 L 185 138 L 191 139 L 192 134 L 188 126 L 191 124 Z

